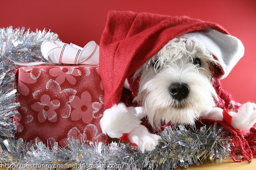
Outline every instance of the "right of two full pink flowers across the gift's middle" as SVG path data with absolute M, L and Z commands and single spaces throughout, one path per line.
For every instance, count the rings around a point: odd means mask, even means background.
M 102 107 L 99 102 L 92 102 L 92 96 L 87 91 L 81 94 L 81 99 L 75 96 L 70 105 L 74 108 L 71 112 L 71 120 L 78 121 L 82 118 L 82 121 L 87 124 L 91 123 L 94 113 L 96 113 L 95 111 L 100 110 Z

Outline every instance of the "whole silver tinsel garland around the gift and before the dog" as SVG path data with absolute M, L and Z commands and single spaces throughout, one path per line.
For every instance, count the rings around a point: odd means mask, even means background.
M 42 61 L 40 45 L 46 39 L 60 41 L 50 31 L 24 32 L 22 29 L 0 29 L 0 168 L 14 169 L 180 169 L 214 159 L 229 158 L 230 139 L 217 123 L 210 127 L 187 130 L 184 126 L 166 127 L 159 145 L 151 152 L 140 152 L 124 143 L 80 143 L 69 139 L 66 148 L 58 143 L 45 145 L 24 143 L 14 137 L 12 117 L 15 103 L 14 69 L 7 58 L 18 62 Z

